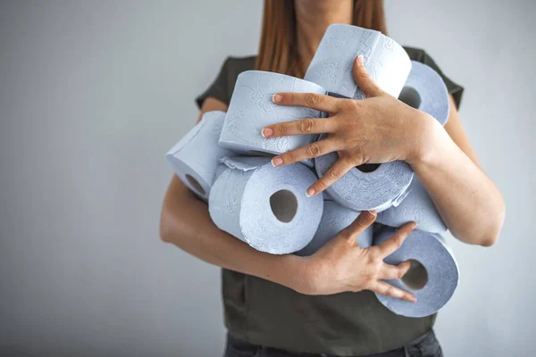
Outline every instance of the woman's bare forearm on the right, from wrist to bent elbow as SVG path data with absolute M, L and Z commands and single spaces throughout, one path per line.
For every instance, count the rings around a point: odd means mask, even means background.
M 502 228 L 505 205 L 498 188 L 433 118 L 428 145 L 410 162 L 452 234 L 473 245 L 490 246 Z

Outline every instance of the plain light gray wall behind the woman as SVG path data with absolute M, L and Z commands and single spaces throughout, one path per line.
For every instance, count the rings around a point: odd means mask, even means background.
M 0 351 L 213 356 L 219 270 L 164 245 L 163 154 L 224 58 L 254 54 L 262 3 L 0 3 Z M 387 1 L 390 35 L 466 88 L 461 116 L 507 202 L 498 244 L 461 267 L 448 356 L 536 349 L 530 0 Z M 532 164 L 531 164 L 532 163 Z

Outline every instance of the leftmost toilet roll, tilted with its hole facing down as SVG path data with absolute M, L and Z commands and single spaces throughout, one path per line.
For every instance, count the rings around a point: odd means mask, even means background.
M 225 112 L 205 112 L 201 121 L 165 154 L 179 179 L 196 195 L 208 200 L 218 159 L 232 153 L 218 145 Z

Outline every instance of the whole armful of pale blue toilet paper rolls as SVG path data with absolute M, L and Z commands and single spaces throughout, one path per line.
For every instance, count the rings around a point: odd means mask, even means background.
M 273 104 L 276 93 L 364 99 L 352 72 L 358 55 L 364 55 L 367 71 L 384 91 L 445 124 L 448 91 L 435 71 L 411 62 L 404 48 L 378 31 L 338 24 L 326 30 L 304 79 L 266 71 L 242 72 L 228 112 L 206 112 L 166 159 L 182 182 L 208 202 L 218 228 L 266 253 L 314 254 L 364 210 L 379 212 L 377 221 L 386 226 L 376 237 L 372 228 L 356 237 L 364 248 L 381 244 L 396 228 L 416 221 L 420 230 L 385 262 L 412 262 L 405 278 L 389 283 L 417 295 L 417 303 L 381 295 L 378 299 L 401 315 L 430 315 L 454 293 L 458 270 L 452 252 L 438 235 L 447 228 L 409 165 L 398 161 L 357 167 L 325 195 L 307 197 L 306 188 L 330 169 L 337 154 L 273 167 L 273 155 L 319 137 L 261 135 L 265 126 L 274 123 L 327 117 L 309 108 Z

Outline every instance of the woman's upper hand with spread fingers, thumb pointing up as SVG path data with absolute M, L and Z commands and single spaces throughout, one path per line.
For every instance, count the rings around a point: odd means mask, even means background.
M 364 163 L 418 161 L 433 142 L 433 130 L 442 127 L 430 115 L 418 111 L 378 87 L 363 65 L 354 62 L 354 79 L 366 95 L 364 100 L 341 99 L 314 93 L 281 93 L 273 102 L 328 112 L 329 118 L 308 118 L 274 124 L 263 129 L 264 137 L 322 134 L 328 136 L 272 158 L 274 166 L 299 162 L 337 151 L 335 162 L 321 179 L 307 189 L 317 195 L 348 170 Z

